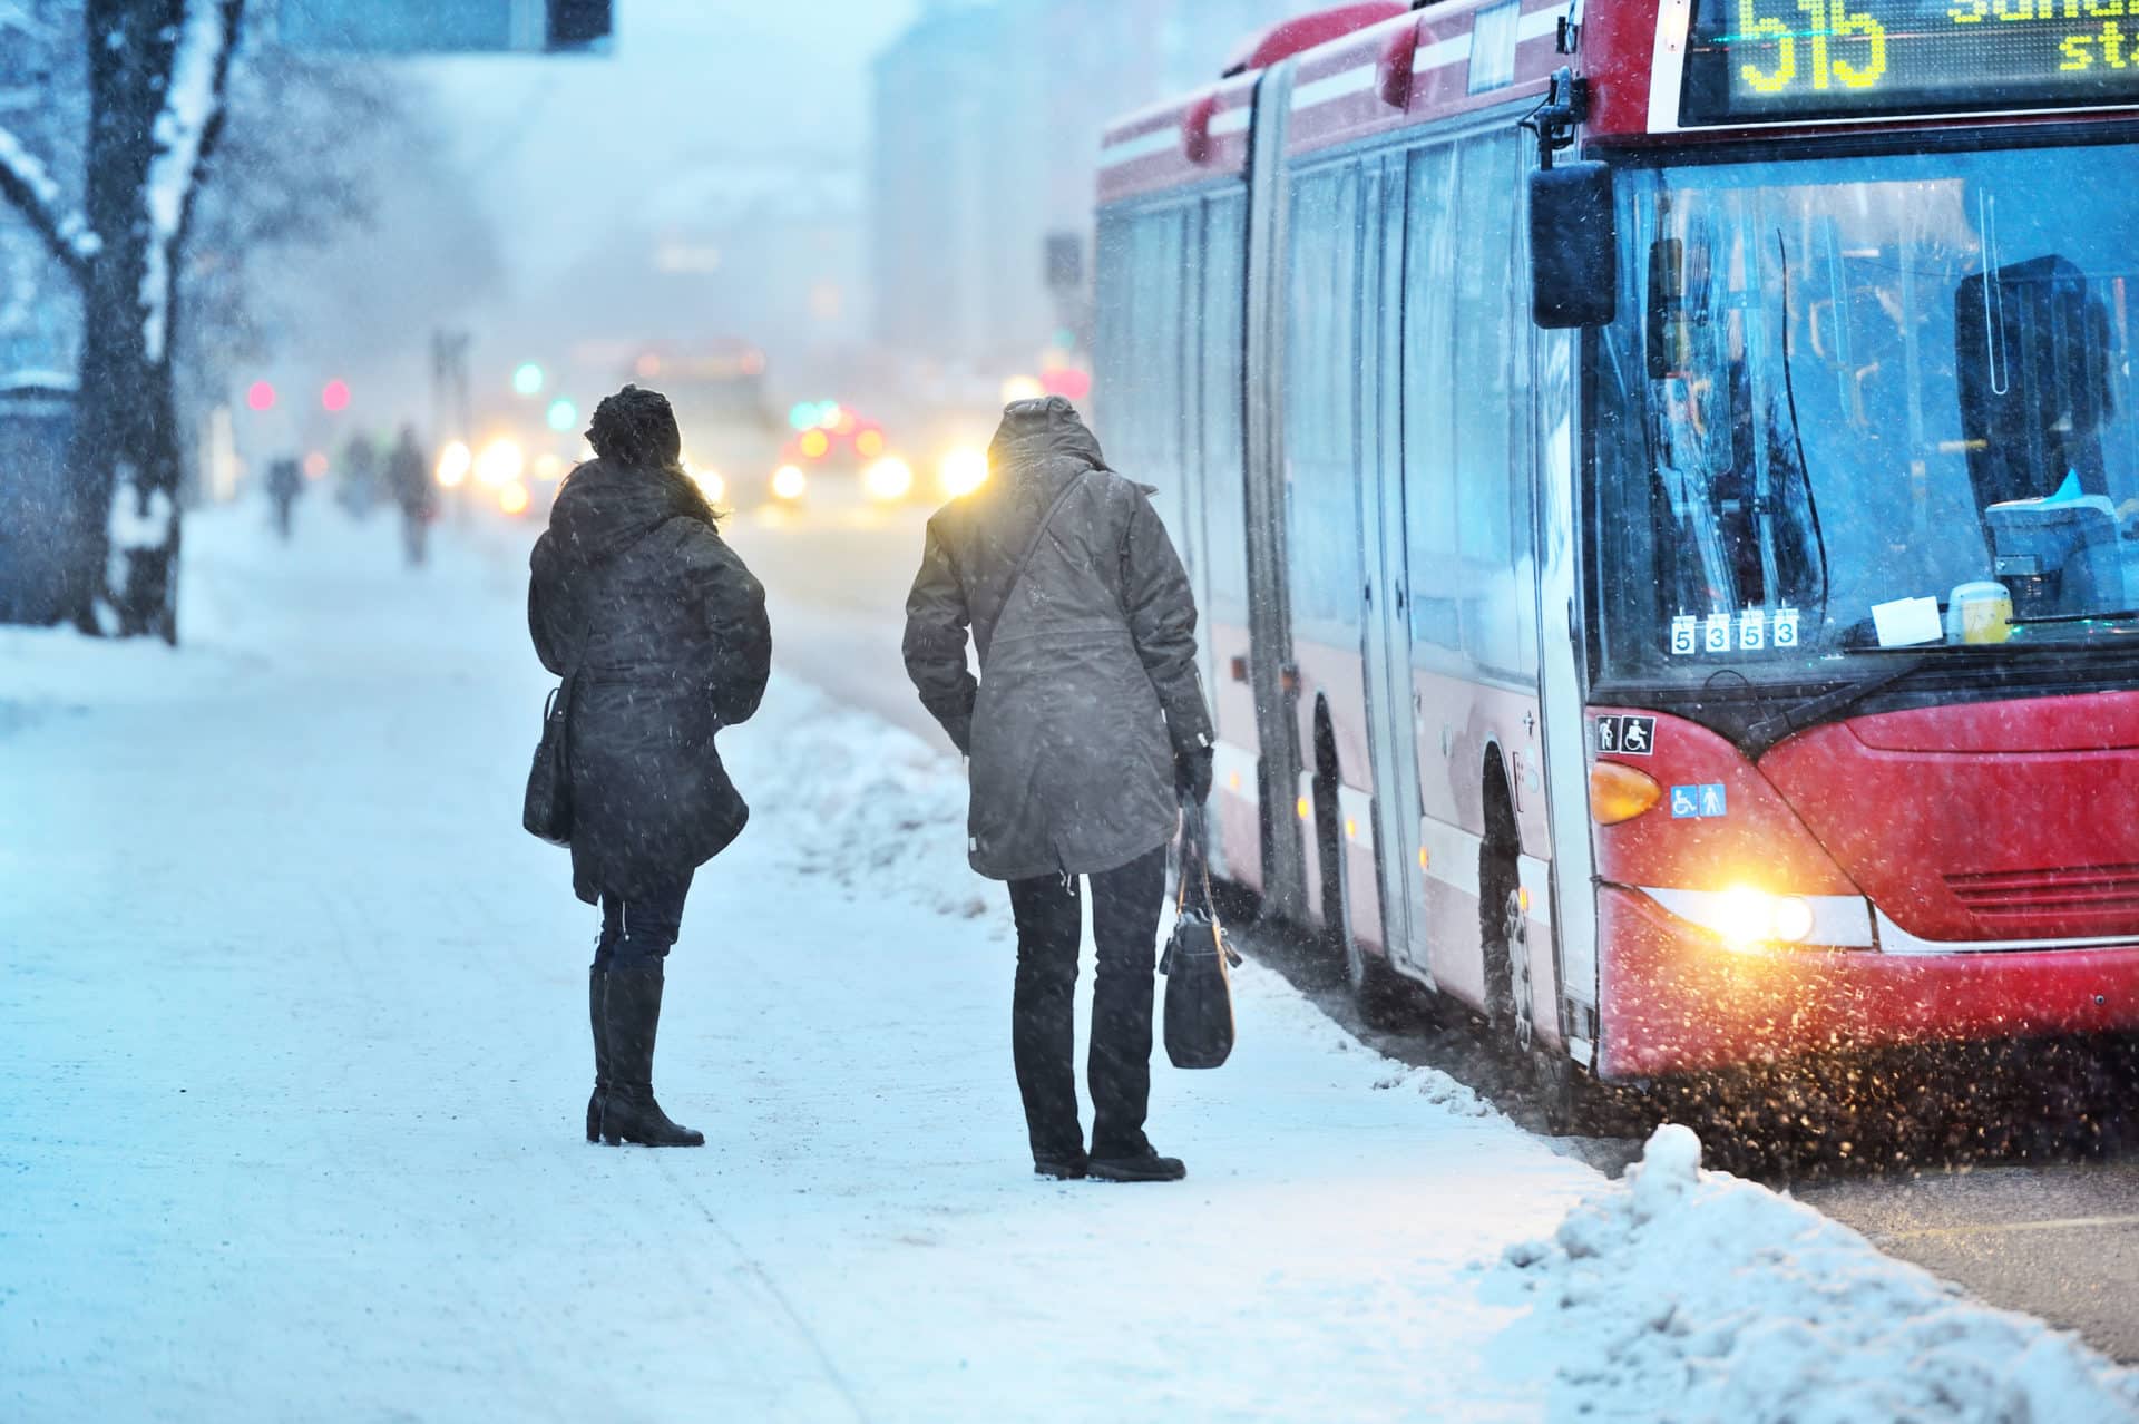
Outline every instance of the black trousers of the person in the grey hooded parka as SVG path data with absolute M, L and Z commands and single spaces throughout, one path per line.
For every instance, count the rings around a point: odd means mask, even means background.
M 1099 979 L 1091 994 L 1091 1155 L 1140 1157 L 1151 1101 L 1151 984 L 1166 904 L 1166 847 L 1121 870 L 1091 877 L 1091 928 Z M 1018 988 L 1010 1043 L 1025 1095 L 1033 1157 L 1084 1148 L 1076 1103 L 1076 960 L 1082 947 L 1078 881 L 1046 874 L 1010 881 L 1018 922 Z

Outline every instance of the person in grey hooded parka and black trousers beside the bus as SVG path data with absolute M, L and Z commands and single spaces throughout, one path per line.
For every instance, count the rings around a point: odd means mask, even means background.
M 1185 1176 L 1144 1135 L 1153 960 L 1166 847 L 1181 802 L 1211 793 L 1213 746 L 1196 601 L 1151 494 L 1106 468 L 1067 400 L 1016 402 L 988 481 L 928 522 L 907 597 L 907 674 L 969 757 L 969 860 L 1010 883 L 1012 1054 L 1042 1176 Z M 1080 879 L 1099 951 L 1089 1150 L 1072 1065 Z

